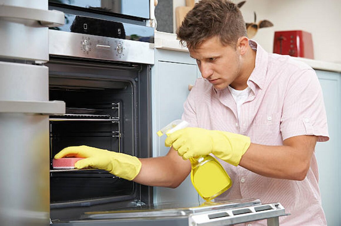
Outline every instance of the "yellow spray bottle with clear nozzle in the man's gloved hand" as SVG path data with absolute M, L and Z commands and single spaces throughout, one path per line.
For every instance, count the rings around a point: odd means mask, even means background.
M 188 126 L 185 120 L 175 120 L 158 131 L 158 135 L 169 135 L 176 130 Z M 231 188 L 232 180 L 217 159 L 210 155 L 197 156 L 191 161 L 191 181 L 198 194 L 206 201 L 210 201 Z

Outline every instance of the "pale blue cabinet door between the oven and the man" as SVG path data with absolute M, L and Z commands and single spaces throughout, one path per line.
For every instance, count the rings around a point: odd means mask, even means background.
M 165 147 L 166 136 L 160 138 L 156 131 L 175 119 L 180 119 L 183 103 L 189 89 L 197 78 L 197 66 L 158 61 L 152 71 L 152 112 L 153 112 L 153 157 L 165 156 L 169 147 Z M 176 172 L 174 172 L 176 173 Z M 172 177 L 172 175 L 167 175 Z M 198 202 L 190 176 L 176 189 L 154 187 L 154 203 L 175 201 L 178 203 Z

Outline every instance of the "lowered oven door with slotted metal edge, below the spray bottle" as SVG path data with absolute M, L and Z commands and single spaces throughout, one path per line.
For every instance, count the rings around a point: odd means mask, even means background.
M 225 226 L 267 219 L 278 226 L 285 209 L 280 203 L 262 204 L 259 199 L 239 199 L 224 203 L 206 202 L 201 206 L 180 203 L 146 205 L 134 209 L 87 212 L 79 220 L 59 222 L 58 226 Z

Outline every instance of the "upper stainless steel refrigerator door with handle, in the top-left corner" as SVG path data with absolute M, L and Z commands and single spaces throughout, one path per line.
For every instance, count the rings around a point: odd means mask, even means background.
M 48 26 L 64 23 L 47 0 L 0 0 L 0 58 L 48 61 Z

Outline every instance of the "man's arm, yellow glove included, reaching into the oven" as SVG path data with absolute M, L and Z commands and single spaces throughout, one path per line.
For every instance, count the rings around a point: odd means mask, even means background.
M 168 154 L 159 158 L 138 159 L 135 156 L 89 147 L 86 145 L 66 147 L 55 155 L 84 158 L 75 163 L 75 168 L 106 170 L 118 177 L 150 185 L 176 188 L 191 171 L 189 160 L 183 160 L 170 148 Z

